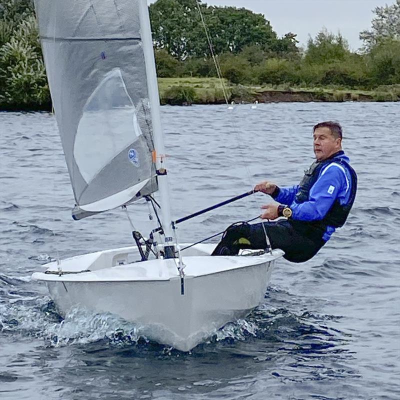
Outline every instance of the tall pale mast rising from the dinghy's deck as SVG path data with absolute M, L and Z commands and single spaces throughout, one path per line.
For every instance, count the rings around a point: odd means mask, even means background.
M 159 95 L 157 74 L 155 71 L 154 51 L 151 38 L 150 18 L 147 1 L 139 0 L 139 18 L 141 40 L 143 43 L 144 61 L 147 75 L 148 97 L 153 127 L 155 166 L 161 203 L 161 223 L 164 231 L 164 251 L 166 258 L 173 258 L 174 246 L 172 242 L 172 218 L 169 203 L 168 178 L 166 175 L 164 140 L 162 136 L 161 119 L 159 114 Z M 165 170 L 165 172 L 163 172 Z

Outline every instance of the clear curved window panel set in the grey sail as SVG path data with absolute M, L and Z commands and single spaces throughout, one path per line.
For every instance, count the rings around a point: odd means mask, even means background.
M 77 127 L 73 156 L 85 181 L 89 183 L 141 134 L 133 101 L 115 68 L 88 98 Z

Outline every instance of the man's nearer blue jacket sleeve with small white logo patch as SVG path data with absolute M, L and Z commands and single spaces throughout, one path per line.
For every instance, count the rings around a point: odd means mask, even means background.
M 349 183 L 344 172 L 336 166 L 326 168 L 321 173 L 309 192 L 309 200 L 290 205 L 292 219 L 313 221 L 322 219 L 340 193 L 349 190 Z M 280 199 L 278 199 L 279 202 Z

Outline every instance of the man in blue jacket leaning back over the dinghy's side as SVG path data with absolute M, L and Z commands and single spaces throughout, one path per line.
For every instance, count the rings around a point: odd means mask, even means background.
M 325 121 L 313 127 L 316 160 L 298 185 L 279 187 L 269 181 L 255 185 L 255 191 L 275 200 L 263 205 L 262 219 L 277 221 L 229 226 L 212 255 L 234 255 L 240 248 L 280 248 L 284 258 L 303 262 L 313 257 L 335 228 L 343 226 L 354 202 L 357 175 L 341 148 L 339 123 Z

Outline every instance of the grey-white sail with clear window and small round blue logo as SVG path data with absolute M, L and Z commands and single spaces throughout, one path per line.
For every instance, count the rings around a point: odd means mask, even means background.
M 158 98 L 151 104 L 140 1 L 34 0 L 73 193 L 87 215 L 157 190 Z

